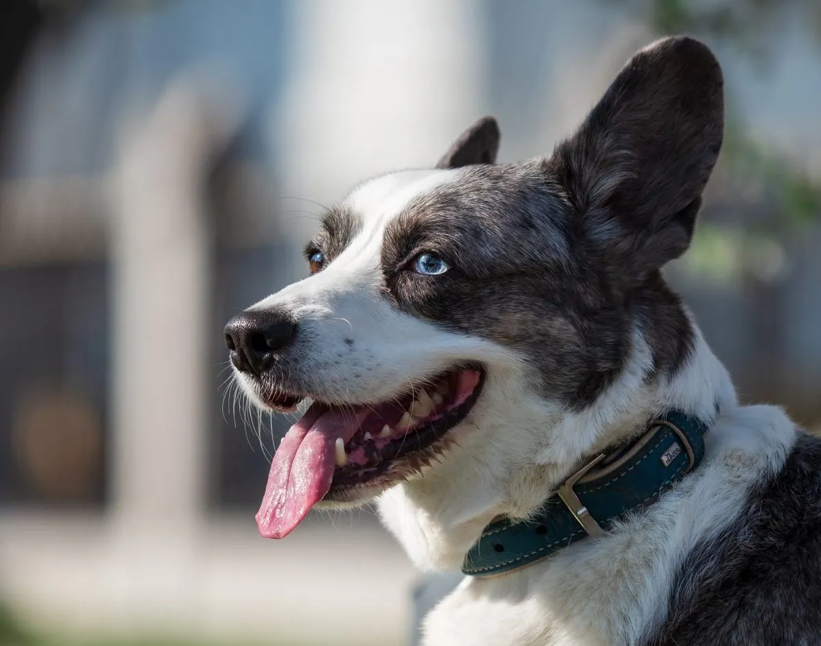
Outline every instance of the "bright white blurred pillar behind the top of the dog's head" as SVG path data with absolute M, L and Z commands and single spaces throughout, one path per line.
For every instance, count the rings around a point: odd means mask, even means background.
M 283 233 L 374 174 L 432 167 L 484 116 L 482 11 L 473 0 L 291 2 L 292 66 L 273 112 Z M 300 273 L 302 268 L 300 266 Z

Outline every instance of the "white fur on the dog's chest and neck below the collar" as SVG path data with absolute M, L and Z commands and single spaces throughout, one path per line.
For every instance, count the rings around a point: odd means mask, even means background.
M 783 465 L 795 438 L 772 406 L 724 412 L 699 470 L 647 513 L 525 570 L 467 578 L 426 618 L 424 644 L 637 643 L 665 618 L 681 560 L 737 518 L 750 486 Z

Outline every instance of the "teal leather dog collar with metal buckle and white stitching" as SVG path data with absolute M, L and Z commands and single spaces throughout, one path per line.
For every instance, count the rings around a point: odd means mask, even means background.
M 600 454 L 571 475 L 527 521 L 494 520 L 465 557 L 462 572 L 492 576 L 549 557 L 562 547 L 601 536 L 614 520 L 654 502 L 699 465 L 709 424 L 671 410 L 642 436 Z

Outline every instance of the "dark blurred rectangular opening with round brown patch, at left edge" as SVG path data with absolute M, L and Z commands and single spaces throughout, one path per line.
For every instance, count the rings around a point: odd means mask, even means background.
M 100 505 L 108 268 L 0 268 L 0 502 Z

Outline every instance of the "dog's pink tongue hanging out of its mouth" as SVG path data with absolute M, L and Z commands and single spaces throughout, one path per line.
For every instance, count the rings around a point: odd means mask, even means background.
M 283 538 L 331 488 L 334 445 L 349 442 L 369 413 L 314 404 L 282 439 L 271 462 L 268 486 L 256 515 L 259 533 Z

